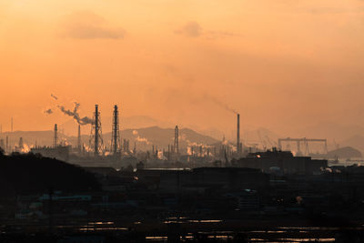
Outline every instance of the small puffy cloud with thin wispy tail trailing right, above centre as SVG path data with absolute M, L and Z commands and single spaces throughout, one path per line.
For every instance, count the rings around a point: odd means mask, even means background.
M 183 25 L 182 27 L 175 30 L 175 34 L 177 35 L 185 35 L 187 37 L 200 37 L 203 36 L 207 38 L 208 40 L 214 40 L 218 38 L 224 38 L 224 37 L 241 37 L 243 35 L 227 32 L 227 31 L 212 31 L 212 30 L 203 30 L 201 25 L 199 25 L 197 22 L 192 21 L 188 22 L 186 25 Z

